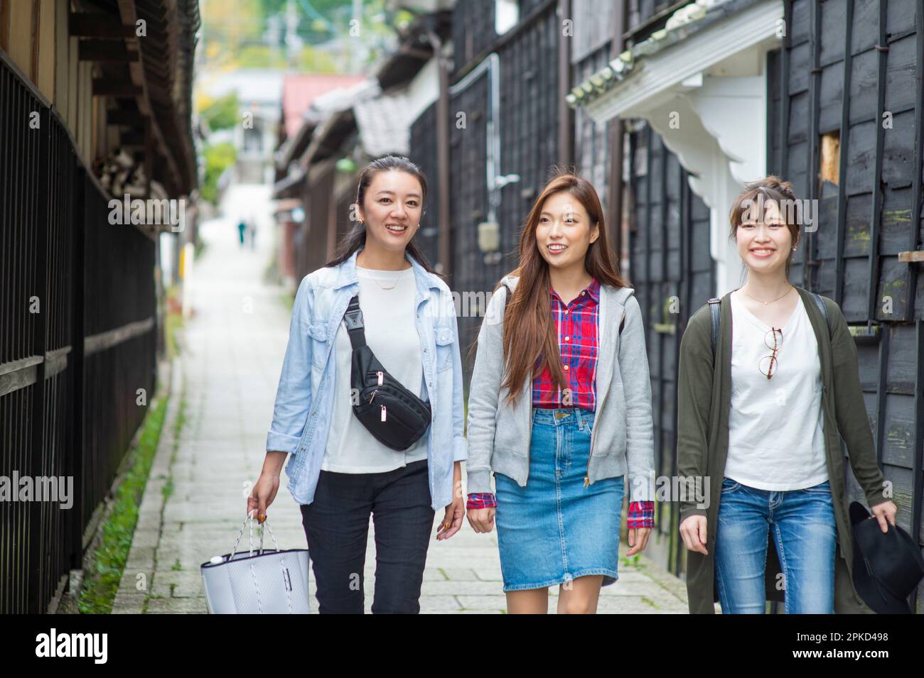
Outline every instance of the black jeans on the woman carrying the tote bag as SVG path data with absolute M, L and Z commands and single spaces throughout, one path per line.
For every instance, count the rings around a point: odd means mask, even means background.
M 375 533 L 372 613 L 419 613 L 435 512 L 427 460 L 385 473 L 321 471 L 301 523 L 318 585 L 318 611 L 362 614 L 369 515 Z

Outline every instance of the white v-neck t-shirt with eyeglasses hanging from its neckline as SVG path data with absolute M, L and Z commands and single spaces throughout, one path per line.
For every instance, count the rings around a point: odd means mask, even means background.
M 783 327 L 768 379 L 759 364 L 772 354 L 764 341 L 771 327 L 748 311 L 739 293 L 731 295 L 732 401 L 724 476 L 774 492 L 825 482 L 821 363 L 802 298 Z

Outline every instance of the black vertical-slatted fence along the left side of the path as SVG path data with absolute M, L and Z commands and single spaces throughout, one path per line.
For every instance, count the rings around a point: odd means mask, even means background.
M 0 475 L 65 482 L 0 502 L 0 613 L 43 613 L 80 566 L 154 391 L 154 243 L 109 223 L 74 148 L 0 54 Z

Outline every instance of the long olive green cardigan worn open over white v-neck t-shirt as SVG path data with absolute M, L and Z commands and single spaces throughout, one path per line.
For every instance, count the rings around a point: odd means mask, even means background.
M 814 303 L 810 293 L 799 287 L 796 290 L 802 297 L 815 338 L 818 339 L 821 361 L 825 456 L 839 545 L 834 560 L 834 612 L 872 613 L 859 599 L 853 586 L 853 541 L 845 496 L 844 456 L 838 436 L 840 433 L 844 439 L 850 466 L 866 494 L 869 506 L 886 501 L 882 494 L 882 473 L 876 460 L 869 417 L 857 374 L 857 347 L 837 303 L 822 297 L 831 319 L 829 335 L 821 309 Z M 715 347 L 715 356 L 721 369 L 712 369 L 708 303 L 690 318 L 680 343 L 677 473 L 681 478 L 708 476 L 710 479 L 708 508 L 698 508 L 695 500 L 680 502 L 681 521 L 689 516 L 706 516 L 706 550 L 709 555 L 687 551 L 687 598 L 690 613 L 714 613 L 713 602 L 718 601 L 714 589 L 713 555 L 725 459 L 728 455 L 732 369 L 732 310 L 729 294 L 731 292 L 722 298 L 722 324 Z M 784 422 L 781 425 L 785 425 Z M 769 541 L 765 573 L 768 600 L 782 600 L 782 592 L 777 592 L 774 585 L 775 581 L 780 580 L 780 570 L 776 550 L 772 547 L 772 541 Z

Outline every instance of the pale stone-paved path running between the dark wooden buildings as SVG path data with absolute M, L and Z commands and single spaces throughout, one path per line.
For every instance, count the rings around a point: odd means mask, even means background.
M 204 228 L 203 238 L 207 250 L 193 274 L 195 315 L 186 322 L 182 354 L 172 370 L 164 434 L 114 613 L 205 613 L 199 565 L 230 551 L 244 518 L 247 483 L 261 469 L 290 318 L 282 290 L 261 281 L 271 256 L 270 233 L 261 232 L 255 251 L 238 247 L 230 223 Z M 305 548 L 285 472 L 281 484 L 268 512 L 270 524 L 281 548 Z M 436 518 L 441 517 L 442 511 Z M 245 534 L 241 542 L 246 541 Z M 599 612 L 686 613 L 683 583 L 648 558 L 641 562 L 634 567 L 624 560 L 619 581 L 602 591 Z M 367 613 L 374 568 L 370 526 Z M 311 605 L 316 609 L 313 598 Z M 503 613 L 496 533 L 475 534 L 467 522 L 452 539 L 432 541 L 420 606 L 425 613 Z

